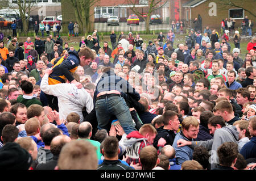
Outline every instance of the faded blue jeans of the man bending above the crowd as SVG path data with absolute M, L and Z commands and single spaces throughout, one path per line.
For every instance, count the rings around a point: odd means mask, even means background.
M 97 100 L 95 110 L 98 120 L 98 129 L 108 130 L 109 123 L 112 121 L 110 118 L 115 115 L 126 134 L 137 131 L 129 107 L 122 97 L 113 96 Z

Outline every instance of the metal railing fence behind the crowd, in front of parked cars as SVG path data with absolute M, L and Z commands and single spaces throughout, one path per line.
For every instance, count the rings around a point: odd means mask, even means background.
M 32 36 L 34 35 L 34 22 L 35 20 L 38 20 L 38 16 L 31 16 L 30 20 L 28 22 L 28 35 Z M 174 30 L 175 33 L 183 33 L 186 34 L 188 33 L 191 28 L 194 28 L 193 25 L 193 20 L 189 19 L 181 19 L 181 22 L 183 22 L 183 29 L 181 31 L 180 30 Z M 22 35 L 22 21 L 21 20 L 17 20 L 17 29 L 16 31 L 20 33 L 20 35 Z M 159 32 L 163 32 L 163 33 L 167 33 L 169 30 L 171 30 L 171 22 L 172 20 L 163 20 L 162 23 L 160 24 L 150 24 L 149 26 L 149 31 L 150 34 L 154 34 L 154 33 L 159 33 Z M 40 23 L 40 22 L 39 22 Z M 60 30 L 60 35 L 61 36 L 67 36 L 68 35 L 68 24 L 69 22 L 61 22 L 61 30 Z M 111 24 L 108 24 L 108 22 L 106 20 L 99 22 L 98 20 L 96 22 L 89 22 L 89 26 L 90 28 L 88 28 L 89 32 L 88 33 L 92 33 L 92 31 L 94 29 L 97 29 L 98 32 L 101 32 L 102 35 L 109 35 L 112 30 L 114 30 L 115 33 L 119 33 L 121 31 L 123 31 L 125 34 L 131 32 L 137 32 L 139 34 L 146 34 L 146 24 L 144 21 L 139 21 L 139 24 L 127 24 L 126 20 L 120 20 L 119 24 L 117 26 L 112 26 Z M 81 26 L 80 26 L 81 28 Z M 10 27 L 5 27 L 5 26 L 1 26 L 0 24 L 0 31 L 2 31 L 4 33 L 5 36 L 10 36 L 12 35 L 12 30 Z M 52 30 L 50 31 L 50 33 L 52 34 Z M 39 31 L 39 35 L 40 35 L 40 31 Z M 81 33 L 80 33 L 81 35 Z

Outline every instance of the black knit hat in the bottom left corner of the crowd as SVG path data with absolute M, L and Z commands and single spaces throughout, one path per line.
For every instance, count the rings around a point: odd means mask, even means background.
M 32 157 L 27 150 L 15 142 L 7 142 L 0 149 L 0 169 L 28 170 L 32 163 Z

